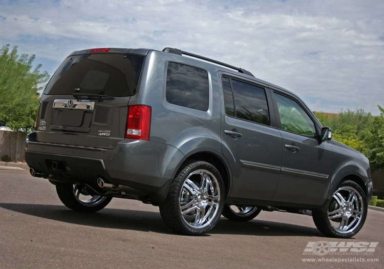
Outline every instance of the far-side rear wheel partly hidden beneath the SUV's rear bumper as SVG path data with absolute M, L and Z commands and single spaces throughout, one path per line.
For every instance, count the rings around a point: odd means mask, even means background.
M 56 184 L 56 192 L 67 208 L 80 212 L 96 212 L 105 208 L 112 197 L 89 194 L 86 185 Z

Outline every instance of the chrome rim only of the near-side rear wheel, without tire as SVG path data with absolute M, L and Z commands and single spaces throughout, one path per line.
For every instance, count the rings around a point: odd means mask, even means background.
M 195 229 L 208 226 L 219 211 L 220 186 L 208 170 L 200 169 L 185 179 L 179 198 L 180 213 Z

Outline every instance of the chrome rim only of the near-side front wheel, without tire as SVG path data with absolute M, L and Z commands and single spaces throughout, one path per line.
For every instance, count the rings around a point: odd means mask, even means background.
M 328 210 L 328 219 L 333 229 L 341 234 L 353 232 L 362 220 L 364 202 L 352 187 L 337 189 Z

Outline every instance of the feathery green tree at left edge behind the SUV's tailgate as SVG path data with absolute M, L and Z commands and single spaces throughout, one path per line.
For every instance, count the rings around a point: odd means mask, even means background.
M 32 67 L 35 55 L 18 55 L 17 47 L 0 49 L 0 121 L 13 131 L 33 128 L 39 101 L 38 91 L 48 81 L 41 64 Z

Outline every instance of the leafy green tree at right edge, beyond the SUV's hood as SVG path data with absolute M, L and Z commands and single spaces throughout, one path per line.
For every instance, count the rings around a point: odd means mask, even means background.
M 373 117 L 370 127 L 361 134 L 365 143 L 362 153 L 370 160 L 372 171 L 384 170 L 384 109 L 378 108 L 380 115 Z

